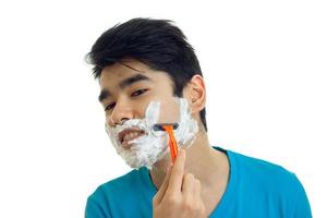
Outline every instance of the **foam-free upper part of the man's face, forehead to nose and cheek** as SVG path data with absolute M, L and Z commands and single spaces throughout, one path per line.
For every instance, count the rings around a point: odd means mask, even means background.
M 121 124 L 124 120 L 142 119 L 150 101 L 160 101 L 160 119 L 173 120 L 178 116 L 173 100 L 173 84 L 165 72 L 154 72 L 147 65 L 128 60 L 107 66 L 101 72 L 99 96 L 110 126 Z M 136 71 L 137 70 L 137 71 Z M 171 108 L 173 107 L 173 108 Z

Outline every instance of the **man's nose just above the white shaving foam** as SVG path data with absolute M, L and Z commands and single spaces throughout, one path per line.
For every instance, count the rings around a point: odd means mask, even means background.
M 114 126 L 117 124 L 122 124 L 130 119 L 133 119 L 133 109 L 131 105 L 123 100 L 117 101 L 112 112 L 109 114 L 109 125 Z

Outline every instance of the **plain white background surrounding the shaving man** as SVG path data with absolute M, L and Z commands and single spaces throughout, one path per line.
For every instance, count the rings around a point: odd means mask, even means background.
M 83 58 L 136 16 L 174 21 L 196 49 L 211 144 L 294 171 L 326 217 L 325 2 L 1 1 L 0 217 L 83 217 L 86 197 L 130 170 Z

